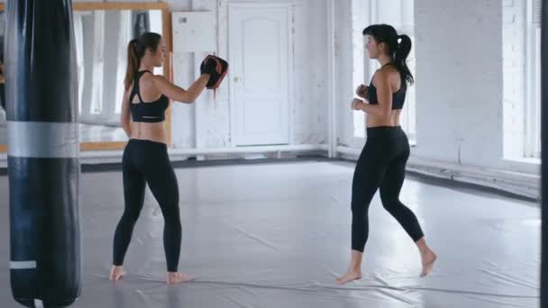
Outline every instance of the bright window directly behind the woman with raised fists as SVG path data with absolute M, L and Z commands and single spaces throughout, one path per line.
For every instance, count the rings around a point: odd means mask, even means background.
M 388 23 L 393 25 L 398 33 L 408 35 L 413 41 L 413 49 L 407 57 L 407 66 L 415 76 L 415 20 L 414 0 L 357 0 L 352 3 L 352 57 L 353 57 L 353 85 L 352 91 L 359 85 L 369 85 L 379 64 L 371 61 L 365 50 L 365 41 L 361 35 L 363 28 L 370 23 Z M 369 18 L 360 16 L 358 12 L 369 12 Z M 367 22 L 370 21 L 370 22 Z M 361 111 L 353 112 L 353 137 L 365 137 L 365 114 Z M 416 141 L 416 95 L 415 86 L 410 86 L 406 95 L 406 106 L 401 113 L 400 122 L 406 131 L 409 141 Z

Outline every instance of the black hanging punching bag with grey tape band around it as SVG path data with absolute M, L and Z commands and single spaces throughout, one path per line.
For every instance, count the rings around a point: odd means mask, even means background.
M 80 294 L 77 67 L 71 0 L 8 0 L 5 94 L 15 301 Z

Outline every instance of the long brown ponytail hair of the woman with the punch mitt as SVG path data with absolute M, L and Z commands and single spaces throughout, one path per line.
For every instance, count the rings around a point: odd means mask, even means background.
M 125 72 L 125 79 L 123 84 L 125 89 L 129 89 L 132 86 L 133 76 L 141 65 L 141 59 L 144 57 L 144 53 L 147 49 L 151 49 L 156 52 L 158 45 L 160 44 L 161 35 L 154 32 L 142 33 L 137 39 L 133 39 L 127 45 L 127 70 Z

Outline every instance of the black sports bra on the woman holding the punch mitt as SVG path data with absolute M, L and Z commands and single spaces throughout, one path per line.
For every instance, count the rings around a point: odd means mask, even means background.
M 169 98 L 166 95 L 161 95 L 160 98 L 154 102 L 144 103 L 141 94 L 139 93 L 139 79 L 141 79 L 144 73 L 151 72 L 142 70 L 135 73 L 132 93 L 130 94 L 130 111 L 132 113 L 133 122 L 162 122 L 166 120 L 165 112 L 169 106 Z M 135 95 L 139 97 L 140 103 L 133 103 L 133 97 L 135 97 Z

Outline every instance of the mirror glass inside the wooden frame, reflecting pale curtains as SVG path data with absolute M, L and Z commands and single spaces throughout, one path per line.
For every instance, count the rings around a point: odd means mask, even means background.
M 127 44 L 144 32 L 162 33 L 161 11 L 77 11 L 80 142 L 127 141 L 120 124 Z M 155 74 L 161 74 L 156 68 Z

